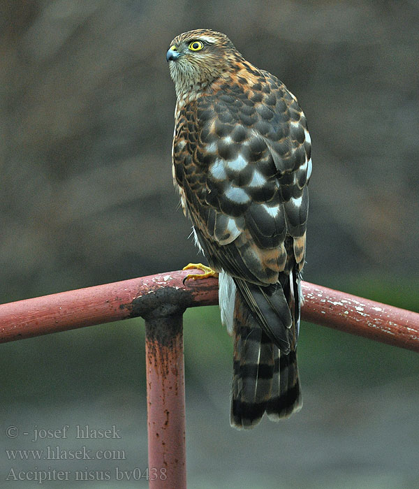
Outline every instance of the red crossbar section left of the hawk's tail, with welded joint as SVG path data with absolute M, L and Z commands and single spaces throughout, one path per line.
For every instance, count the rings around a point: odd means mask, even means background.
M 184 309 L 216 304 L 216 279 L 184 286 L 187 273 L 161 273 L 2 304 L 0 343 L 144 316 L 170 302 Z

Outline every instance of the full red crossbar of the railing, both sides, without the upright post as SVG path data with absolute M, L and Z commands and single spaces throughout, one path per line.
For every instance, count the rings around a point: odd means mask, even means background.
M 0 305 L 0 342 L 146 316 L 156 307 L 218 302 L 210 277 L 182 280 L 191 270 L 124 280 Z M 302 319 L 419 351 L 419 314 L 302 282 Z

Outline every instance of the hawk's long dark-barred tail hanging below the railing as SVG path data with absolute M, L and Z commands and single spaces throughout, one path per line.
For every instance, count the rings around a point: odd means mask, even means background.
M 240 290 L 241 285 L 237 283 Z M 285 299 L 281 288 L 277 294 Z M 272 337 L 267 335 L 265 328 L 260 327 L 260 321 L 256 320 L 256 314 L 252 314 L 247 302 L 242 293 L 236 291 L 230 424 L 238 429 L 253 428 L 265 412 L 272 421 L 278 421 L 291 416 L 302 407 L 295 353 L 296 322 L 299 317 L 295 318 L 293 314 L 293 323 L 286 328 L 291 341 L 289 353 L 283 353 L 272 342 Z M 287 302 L 290 303 L 289 298 Z M 265 303 L 258 301 L 258 309 L 264 312 L 265 308 L 272 308 L 272 300 Z

